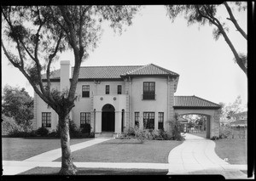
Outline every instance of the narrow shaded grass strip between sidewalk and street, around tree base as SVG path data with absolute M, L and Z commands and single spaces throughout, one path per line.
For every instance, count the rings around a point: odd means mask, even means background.
M 57 175 L 59 167 L 35 167 L 19 175 Z M 78 168 L 77 175 L 166 175 L 168 170 L 156 169 L 112 169 L 112 168 Z

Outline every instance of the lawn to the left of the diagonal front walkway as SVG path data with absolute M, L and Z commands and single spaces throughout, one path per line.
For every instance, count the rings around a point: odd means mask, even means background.
M 79 144 L 88 140 L 90 139 L 71 139 L 71 144 Z M 23 161 L 58 148 L 61 148 L 60 139 L 2 138 L 3 161 Z

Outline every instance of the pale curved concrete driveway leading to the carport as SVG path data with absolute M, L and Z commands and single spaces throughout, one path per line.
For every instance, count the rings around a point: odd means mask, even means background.
M 230 165 L 215 153 L 215 143 L 192 134 L 185 134 L 185 141 L 168 156 L 168 174 L 221 174 L 225 178 L 247 178 L 240 169 L 245 165 Z

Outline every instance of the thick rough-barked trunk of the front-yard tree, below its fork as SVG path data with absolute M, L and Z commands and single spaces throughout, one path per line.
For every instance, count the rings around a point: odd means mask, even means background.
M 68 123 L 68 115 L 59 115 L 59 126 L 61 131 L 61 171 L 59 174 L 61 175 L 75 175 L 77 172 L 71 156 Z

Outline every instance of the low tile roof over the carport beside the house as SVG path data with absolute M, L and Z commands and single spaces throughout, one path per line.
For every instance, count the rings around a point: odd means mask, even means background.
M 174 96 L 174 108 L 212 108 L 218 109 L 220 105 L 206 99 L 193 96 Z

